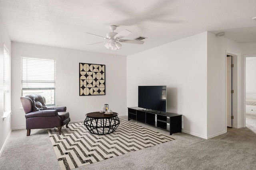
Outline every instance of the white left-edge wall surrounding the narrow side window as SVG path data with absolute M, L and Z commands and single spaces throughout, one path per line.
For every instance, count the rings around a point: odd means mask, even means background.
M 11 131 L 10 115 L 5 121 L 2 119 L 4 114 L 4 44 L 9 50 L 11 59 L 11 41 L 0 18 L 0 155 Z

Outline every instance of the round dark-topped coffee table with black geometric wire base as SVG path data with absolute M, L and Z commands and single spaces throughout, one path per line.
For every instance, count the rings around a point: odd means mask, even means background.
M 84 126 L 90 133 L 104 135 L 112 133 L 120 124 L 118 113 L 104 114 L 103 112 L 92 112 L 86 114 Z

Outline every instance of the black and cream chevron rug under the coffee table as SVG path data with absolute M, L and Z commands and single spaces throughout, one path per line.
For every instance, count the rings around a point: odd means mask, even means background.
M 71 123 L 58 135 L 57 129 L 48 134 L 62 170 L 78 168 L 174 140 L 169 135 L 146 129 L 120 119 L 118 128 L 107 135 L 90 133 L 84 123 Z

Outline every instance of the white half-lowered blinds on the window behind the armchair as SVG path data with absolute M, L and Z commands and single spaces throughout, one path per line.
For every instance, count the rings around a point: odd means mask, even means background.
M 55 89 L 55 60 L 22 57 L 22 90 Z

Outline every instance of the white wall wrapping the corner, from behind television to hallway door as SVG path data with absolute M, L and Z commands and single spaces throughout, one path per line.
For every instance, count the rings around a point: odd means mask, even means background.
M 127 57 L 127 106 L 138 86 L 166 85 L 167 111 L 182 114 L 182 131 L 202 138 L 226 133 L 226 53 L 237 55 L 236 127 L 244 126 L 240 44 L 210 32 Z

